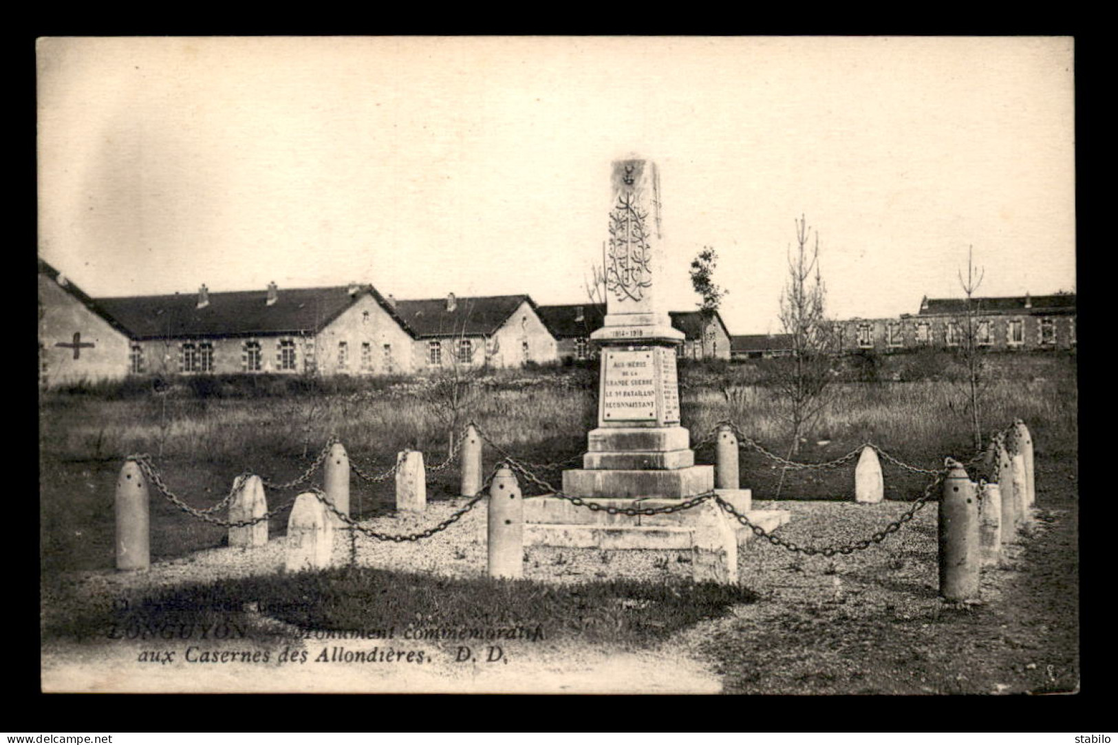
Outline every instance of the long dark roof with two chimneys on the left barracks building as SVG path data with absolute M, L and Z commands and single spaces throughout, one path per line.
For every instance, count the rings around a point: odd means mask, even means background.
M 267 290 L 210 292 L 205 308 L 197 307 L 198 293 L 98 298 L 95 302 L 135 339 L 191 339 L 316 333 L 366 294 L 399 321 L 391 305 L 369 284 L 280 287 L 272 305 L 267 304 Z

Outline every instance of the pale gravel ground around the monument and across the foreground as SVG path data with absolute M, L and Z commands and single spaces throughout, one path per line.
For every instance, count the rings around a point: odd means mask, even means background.
M 435 501 L 423 515 L 398 513 L 362 525 L 383 532 L 414 532 L 464 502 Z M 792 521 L 780 535 L 815 546 L 866 537 L 909 507 L 890 501 L 755 502 L 755 509 L 790 510 Z M 371 671 L 341 666 L 333 676 L 306 671 L 277 678 L 274 669 L 255 667 L 192 669 L 190 676 L 179 670 L 176 676 L 169 666 L 123 675 L 121 666 L 134 668 L 134 648 L 117 644 L 97 652 L 59 642 L 44 648 L 44 685 L 54 681 L 64 690 L 189 690 L 197 683 L 201 689 L 228 686 L 230 690 L 610 694 L 1072 690 L 1079 675 L 1076 519 L 1073 503 L 1040 510 L 999 565 L 983 573 L 980 605 L 949 605 L 937 596 L 932 502 L 882 544 L 849 556 L 809 558 L 766 541 L 749 541 L 739 554 L 739 582 L 761 600 L 733 606 L 727 616 L 701 622 L 647 649 L 607 649 L 577 640 L 515 642 L 506 645 L 508 663 L 484 666 L 454 664 L 445 650 L 430 648 L 439 660 L 433 667 Z M 359 536 L 356 560 L 396 572 L 483 576 L 484 526 L 482 506 L 427 540 Z M 337 531 L 335 563 L 347 564 L 354 556 L 351 538 L 349 531 Z M 214 548 L 155 563 L 146 573 L 76 573 L 70 577 L 70 597 L 42 598 L 44 623 L 47 613 L 72 610 L 68 603 L 107 610 L 113 598 L 130 590 L 277 573 L 286 548 L 287 539 L 280 537 L 259 548 Z M 1048 576 L 1038 576 L 1039 572 Z M 527 579 L 565 584 L 609 577 L 662 581 L 690 574 L 689 551 L 532 547 L 524 563 Z M 110 660 L 114 663 L 106 667 Z M 113 675 L 119 678 L 115 683 Z

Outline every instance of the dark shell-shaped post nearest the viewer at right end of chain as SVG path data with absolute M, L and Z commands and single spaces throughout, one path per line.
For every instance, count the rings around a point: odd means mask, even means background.
M 975 484 L 958 463 L 944 479 L 939 502 L 939 594 L 951 602 L 977 600 L 982 568 Z

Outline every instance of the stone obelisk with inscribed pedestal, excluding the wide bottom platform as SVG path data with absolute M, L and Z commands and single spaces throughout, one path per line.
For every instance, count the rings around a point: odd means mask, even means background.
M 680 426 L 676 348 L 656 292 L 664 276 L 660 179 L 648 160 L 613 163 L 607 307 L 590 334 L 601 348 L 598 427 L 582 468 L 563 471 L 563 493 L 593 498 L 686 498 L 714 488 L 714 469 L 695 465 L 690 433 Z

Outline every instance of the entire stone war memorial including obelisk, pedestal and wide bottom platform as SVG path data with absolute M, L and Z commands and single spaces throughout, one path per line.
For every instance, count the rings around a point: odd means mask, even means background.
M 695 465 L 691 434 L 680 426 L 675 359 L 684 336 L 653 292 L 660 179 L 651 161 L 625 160 L 613 164 L 610 183 L 608 307 L 603 327 L 590 334 L 601 348 L 598 427 L 587 436 L 582 468 L 563 471 L 562 493 L 619 510 L 679 504 L 714 490 L 714 466 Z M 719 496 L 766 529 L 788 519 L 788 512 L 750 510 L 748 490 Z M 738 544 L 752 537 L 713 499 L 678 512 L 636 516 L 591 510 L 561 497 L 524 500 L 525 545 L 691 549 L 697 581 L 736 584 Z

